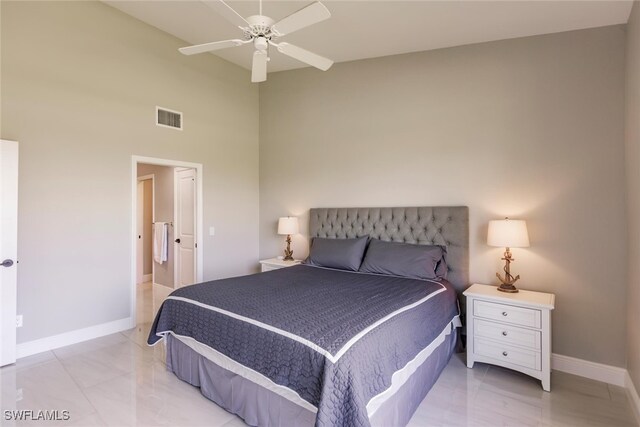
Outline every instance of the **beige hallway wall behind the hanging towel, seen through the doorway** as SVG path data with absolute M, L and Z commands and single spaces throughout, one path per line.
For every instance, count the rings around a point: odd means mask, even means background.
M 156 221 L 157 222 L 168 222 L 172 223 L 174 221 L 173 217 L 173 205 L 174 205 L 174 176 L 173 176 L 174 168 L 169 166 L 158 166 L 158 165 L 147 165 L 147 164 L 139 164 L 138 165 L 138 176 L 144 175 L 153 175 L 154 185 L 155 185 L 155 213 L 156 213 Z M 158 283 L 160 285 L 169 286 L 171 288 L 174 287 L 174 247 L 171 242 L 175 239 L 173 235 L 173 227 L 169 227 L 169 250 L 167 256 L 167 262 L 163 262 L 162 264 L 155 263 L 155 277 L 154 283 Z M 153 262 L 153 255 L 152 255 Z

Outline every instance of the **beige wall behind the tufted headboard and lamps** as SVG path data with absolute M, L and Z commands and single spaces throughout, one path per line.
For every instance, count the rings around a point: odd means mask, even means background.
M 311 207 L 468 205 L 471 279 L 495 283 L 487 221 L 524 218 L 512 269 L 557 295 L 553 351 L 625 366 L 624 48 L 615 26 L 270 74 L 260 256 Z

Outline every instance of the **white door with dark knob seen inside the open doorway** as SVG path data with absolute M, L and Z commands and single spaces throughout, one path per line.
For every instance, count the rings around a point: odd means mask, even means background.
M 176 169 L 174 239 L 175 287 L 192 285 L 196 278 L 196 171 Z

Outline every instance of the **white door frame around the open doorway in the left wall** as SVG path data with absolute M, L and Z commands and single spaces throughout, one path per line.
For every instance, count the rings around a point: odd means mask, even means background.
M 160 159 L 157 157 L 131 156 L 131 215 L 130 215 L 130 235 L 131 235 L 131 265 L 130 265 L 130 287 L 131 287 L 131 327 L 136 326 L 136 267 L 137 267 L 137 243 L 136 243 L 136 223 L 137 223 L 137 197 L 138 197 L 138 164 L 145 163 L 156 166 L 183 167 L 196 170 L 196 242 L 200 243 L 196 251 L 196 282 L 203 281 L 204 272 L 204 249 L 203 246 L 203 165 L 202 163 L 183 162 L 181 160 Z M 155 191 L 154 191 L 155 196 Z

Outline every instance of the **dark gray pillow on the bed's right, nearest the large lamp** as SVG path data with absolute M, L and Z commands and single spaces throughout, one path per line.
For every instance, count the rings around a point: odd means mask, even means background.
M 446 275 L 444 246 L 414 245 L 372 239 L 360 266 L 364 273 L 390 274 L 412 279 L 438 279 Z

